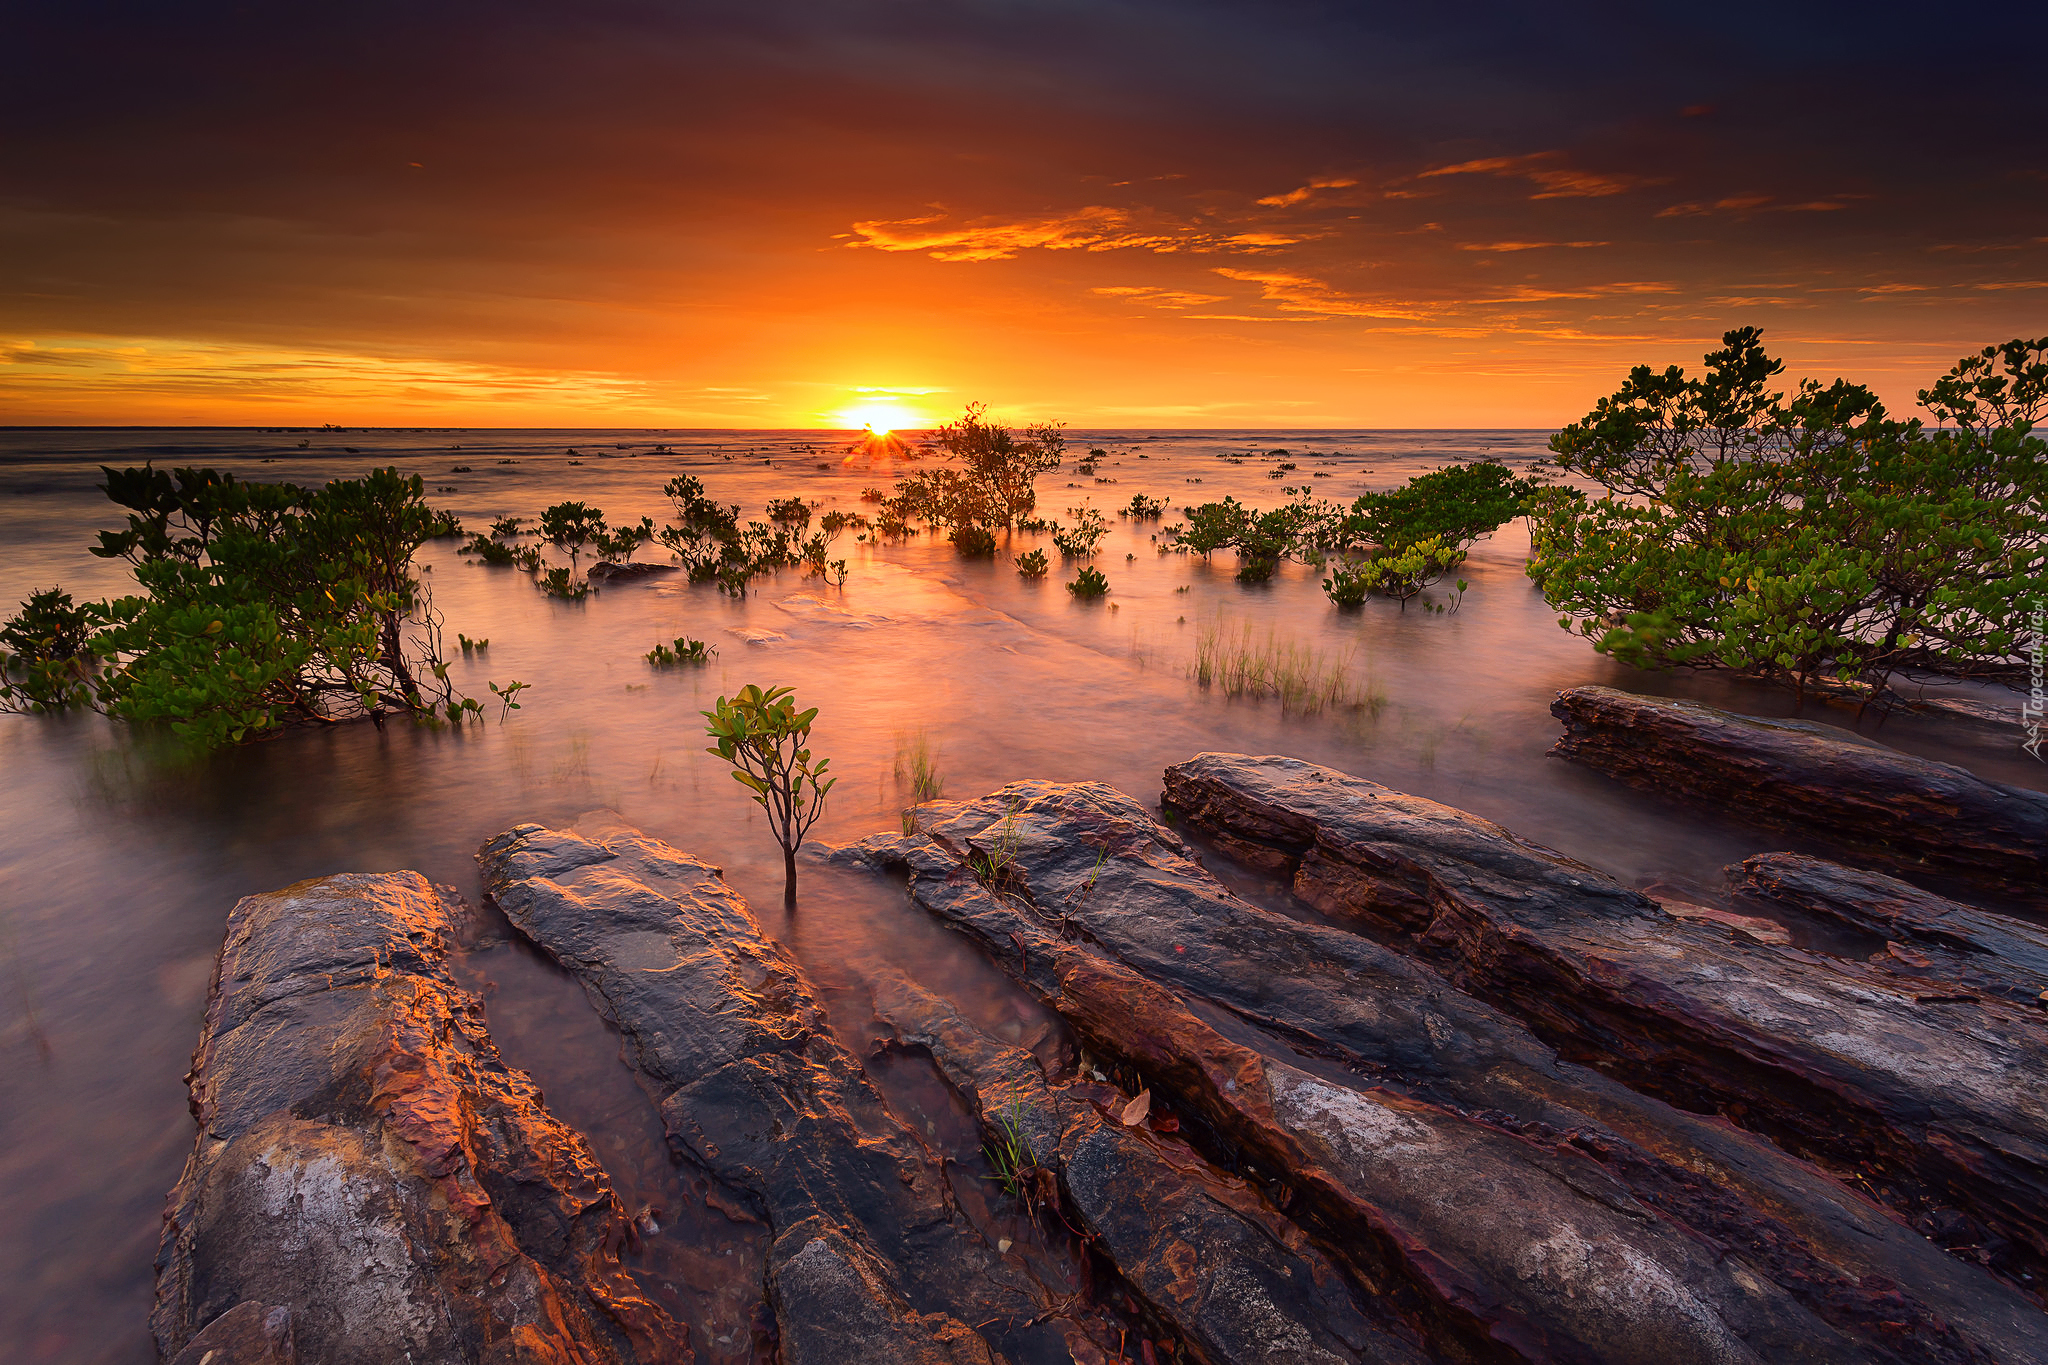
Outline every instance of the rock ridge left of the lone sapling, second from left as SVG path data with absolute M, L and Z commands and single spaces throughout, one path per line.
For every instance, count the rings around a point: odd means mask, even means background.
M 717 868 L 635 831 L 541 825 L 477 860 L 506 917 L 625 1036 L 678 1156 L 766 1224 L 762 1295 L 782 1361 L 983 1365 L 1092 1349 L 961 1216 L 940 1162 Z

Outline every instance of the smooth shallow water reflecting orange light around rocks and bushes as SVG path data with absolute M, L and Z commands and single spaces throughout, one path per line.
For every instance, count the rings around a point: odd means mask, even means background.
M 672 452 L 655 454 L 655 442 Z M 1077 477 L 1069 460 L 1040 481 L 1040 512 L 1063 516 L 1085 499 L 1112 516 L 1096 561 L 1112 583 L 1108 602 L 1075 602 L 1063 589 L 1071 569 L 1030 583 L 1006 557 L 971 563 L 944 544 L 848 538 L 844 587 L 784 571 L 745 600 L 655 579 L 561 604 L 522 573 L 457 559 L 446 540 L 422 559 L 449 636 L 489 639 L 485 653 L 455 657 L 457 681 L 485 698 L 485 679 L 532 684 L 506 718 L 487 712 L 463 733 L 344 726 L 180 767 L 98 718 L 0 716 L 0 1340 L 10 1359 L 154 1359 L 145 1316 L 160 1209 L 193 1142 L 180 1076 L 223 917 L 248 892 L 416 868 L 477 900 L 471 855 L 483 839 L 518 821 L 573 823 L 612 808 L 723 866 L 811 970 L 856 1052 L 874 1038 L 862 982 L 883 964 L 991 1027 L 1032 1029 L 1030 1005 L 895 886 L 807 864 L 801 909 L 782 915 L 780 855 L 739 786 L 702 753 L 696 714 L 748 681 L 791 684 L 821 706 L 815 745 L 842 782 L 819 839 L 897 827 L 909 802 L 903 757 L 922 731 L 948 796 L 1055 778 L 1102 780 L 1155 802 L 1161 767 L 1192 753 L 1292 753 L 1481 812 L 1626 882 L 1696 888 L 1696 898 L 1712 898 L 1724 864 L 1798 847 L 1544 757 L 1559 735 L 1550 698 L 1575 684 L 1755 714 L 1788 714 L 1790 698 L 1602 659 L 1556 628 L 1524 577 L 1520 526 L 1475 546 L 1470 591 L 1440 616 L 1391 602 L 1337 612 L 1298 565 L 1241 587 L 1229 555 L 1214 565 L 1161 557 L 1149 540 L 1155 522 L 1114 518 L 1133 493 L 1176 508 L 1225 493 L 1274 505 L 1280 487 L 1313 483 L 1348 499 L 1454 456 L 1532 463 L 1542 434 L 1081 432 L 1073 444 L 1116 450 L 1098 471 L 1114 483 Z M 1300 469 L 1274 481 L 1268 458 L 1219 458 L 1274 446 Z M 119 522 L 94 491 L 100 463 L 215 465 L 301 483 L 395 463 L 430 489 L 453 489 L 432 501 L 483 528 L 563 497 L 614 522 L 662 522 L 662 483 L 684 471 L 756 516 L 791 493 L 858 510 L 858 491 L 887 485 L 889 471 L 840 456 L 842 446 L 811 432 L 0 432 L 0 604 L 12 610 L 51 583 L 80 598 L 123 591 L 123 565 L 84 551 L 96 528 Z M 455 465 L 471 473 L 451 473 Z M 1014 548 L 1032 544 L 1053 553 L 1032 536 Z M 1198 630 L 1219 618 L 1343 659 L 1366 704 L 1286 714 L 1270 700 L 1204 692 L 1188 661 Z M 700 669 L 643 661 L 680 634 L 709 639 L 719 655 Z M 1866 731 L 2044 786 L 2040 765 L 1974 731 L 1898 718 Z M 664 1232 L 641 1252 L 643 1281 L 690 1316 L 709 1357 L 743 1359 L 748 1324 L 690 1287 L 692 1267 L 725 1248 L 678 1236 L 711 1224 L 690 1222 L 690 1193 L 662 1154 L 653 1111 L 580 990 L 502 923 L 479 935 L 461 972 L 487 990 L 508 1060 L 592 1136 L 629 1205 L 664 1209 Z M 885 1068 L 883 1085 L 920 1130 L 932 1124 L 934 1142 L 967 1144 L 973 1156 L 971 1136 L 946 1128 L 942 1097 L 915 1068 Z

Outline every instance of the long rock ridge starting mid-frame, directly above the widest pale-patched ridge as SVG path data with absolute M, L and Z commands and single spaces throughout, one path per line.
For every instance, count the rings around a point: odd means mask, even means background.
M 1491 821 L 1298 759 L 1204 753 L 1165 790 L 1569 1056 L 2048 1263 L 2048 1031 L 2028 1011 L 1671 919 Z

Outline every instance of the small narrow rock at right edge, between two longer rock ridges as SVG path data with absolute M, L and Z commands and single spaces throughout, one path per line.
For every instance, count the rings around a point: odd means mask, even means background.
M 1931 976 L 1970 990 L 2021 1005 L 2042 1003 L 2048 993 L 2048 929 L 2023 919 L 1804 853 L 1757 853 L 1729 868 L 1729 876 L 1745 896 L 1907 943 Z

